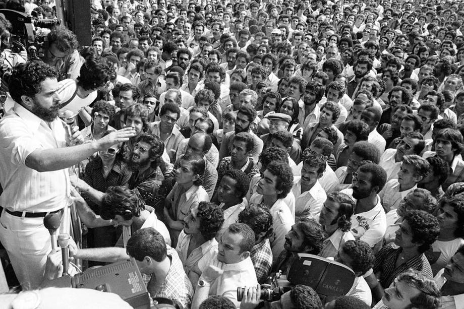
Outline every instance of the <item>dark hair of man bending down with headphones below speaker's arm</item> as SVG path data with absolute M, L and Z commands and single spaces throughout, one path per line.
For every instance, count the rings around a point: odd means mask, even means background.
M 120 215 L 124 220 L 130 220 L 139 217 L 144 209 L 145 203 L 132 190 L 125 186 L 111 186 L 101 199 L 100 216 L 110 220 Z

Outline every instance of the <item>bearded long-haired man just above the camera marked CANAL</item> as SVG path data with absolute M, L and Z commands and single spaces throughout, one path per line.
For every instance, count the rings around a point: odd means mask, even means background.
M 322 249 L 322 226 L 313 219 L 302 218 L 285 235 L 283 250 L 272 266 L 272 272 L 285 271 L 297 258 L 297 254 L 318 255 Z

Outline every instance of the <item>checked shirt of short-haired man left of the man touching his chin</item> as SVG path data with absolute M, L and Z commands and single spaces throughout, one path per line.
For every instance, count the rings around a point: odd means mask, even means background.
M 155 290 L 150 286 L 152 275 L 143 274 L 143 281 L 147 285 L 151 297 L 168 298 L 182 304 L 184 308 L 190 308 L 194 294 L 192 283 L 184 272 L 184 267 L 176 250 L 168 246 L 167 256 L 171 258 L 171 266 L 161 288 Z

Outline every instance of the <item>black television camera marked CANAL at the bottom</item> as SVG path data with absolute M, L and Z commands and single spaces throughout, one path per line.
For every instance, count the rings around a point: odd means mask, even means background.
M 271 277 L 270 284 L 261 285 L 260 299 L 268 302 L 279 300 L 293 286 L 303 284 L 313 288 L 324 303 L 327 297 L 346 295 L 355 278 L 353 270 L 341 263 L 312 254 L 298 254 L 284 274 L 279 271 Z M 237 288 L 238 301 L 242 301 L 244 289 Z

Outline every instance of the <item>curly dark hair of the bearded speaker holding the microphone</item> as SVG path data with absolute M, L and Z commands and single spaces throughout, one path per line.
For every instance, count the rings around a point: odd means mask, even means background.
M 40 85 L 47 78 L 57 78 L 58 72 L 55 68 L 43 63 L 42 61 L 28 61 L 25 64 L 18 64 L 13 68 L 11 75 L 10 95 L 18 103 L 22 103 L 21 96 L 34 97 L 42 91 Z

